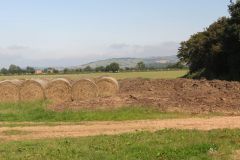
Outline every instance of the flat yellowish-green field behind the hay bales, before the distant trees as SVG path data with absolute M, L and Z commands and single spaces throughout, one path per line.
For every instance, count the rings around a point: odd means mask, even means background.
M 117 79 L 125 78 L 163 78 L 163 79 L 174 79 L 182 77 L 187 74 L 188 70 L 177 70 L 177 71 L 149 71 L 149 72 L 120 72 L 120 73 L 81 73 L 81 74 L 64 74 L 64 75 L 19 75 L 19 76 L 0 76 L 0 80 L 4 79 L 22 79 L 22 78 L 94 78 L 99 76 L 112 76 Z

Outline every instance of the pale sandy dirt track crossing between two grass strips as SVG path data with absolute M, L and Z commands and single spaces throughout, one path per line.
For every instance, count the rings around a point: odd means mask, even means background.
M 1 127 L 0 139 L 29 140 L 60 137 L 83 137 L 95 135 L 113 135 L 135 131 L 156 131 L 162 129 L 234 129 L 240 128 L 240 116 L 238 117 L 214 117 L 171 119 L 171 120 L 142 120 L 123 122 L 86 122 L 80 125 L 58 126 L 29 126 L 29 127 Z M 19 134 L 9 135 L 6 132 L 14 131 Z

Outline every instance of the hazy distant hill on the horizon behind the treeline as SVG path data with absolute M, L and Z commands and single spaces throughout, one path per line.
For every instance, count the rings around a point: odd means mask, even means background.
M 149 57 L 149 58 L 112 58 L 112 59 L 90 62 L 87 64 L 75 66 L 72 68 L 85 68 L 87 66 L 96 68 L 99 66 L 107 66 L 113 62 L 118 63 L 121 68 L 126 68 L 126 67 L 133 68 L 137 65 L 138 62 L 141 62 L 141 61 L 143 61 L 147 67 L 163 68 L 169 64 L 174 64 L 178 62 L 178 58 L 176 56 Z

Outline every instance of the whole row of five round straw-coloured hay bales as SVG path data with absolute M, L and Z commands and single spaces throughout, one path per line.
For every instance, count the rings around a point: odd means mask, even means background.
M 0 102 L 35 101 L 49 99 L 54 103 L 90 100 L 108 97 L 119 90 L 112 77 L 94 80 L 71 81 L 64 78 L 53 80 L 5 80 L 0 82 Z

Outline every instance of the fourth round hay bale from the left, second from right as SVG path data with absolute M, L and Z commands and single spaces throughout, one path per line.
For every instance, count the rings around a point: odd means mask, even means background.
M 72 86 L 72 97 L 75 101 L 90 100 L 97 96 L 97 85 L 90 79 L 80 79 Z

